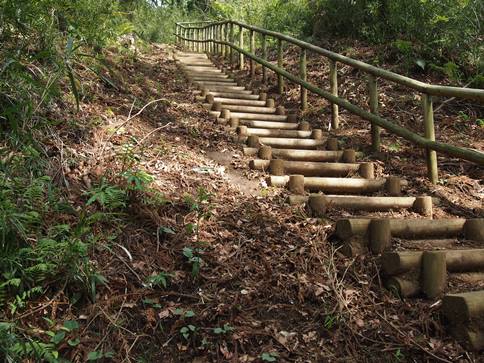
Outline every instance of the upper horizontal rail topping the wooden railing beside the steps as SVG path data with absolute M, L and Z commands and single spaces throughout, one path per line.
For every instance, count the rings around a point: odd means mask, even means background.
M 333 61 L 340 62 L 346 65 L 349 65 L 353 68 L 359 69 L 365 73 L 372 74 L 376 77 L 380 77 L 383 79 L 386 79 L 388 81 L 392 81 L 395 83 L 398 83 L 400 85 L 412 88 L 418 92 L 421 93 L 427 93 L 429 95 L 433 96 L 443 96 L 443 97 L 456 97 L 456 98 L 463 98 L 463 99 L 472 99 L 476 100 L 479 102 L 482 102 L 484 104 L 484 90 L 481 89 L 475 89 L 475 88 L 462 88 L 462 87 L 452 87 L 452 86 L 440 86 L 440 85 L 434 85 L 434 84 L 428 84 L 425 82 L 417 81 L 413 78 L 402 76 L 401 74 L 394 73 L 391 71 L 387 71 L 385 69 L 381 69 L 375 66 L 372 66 L 371 64 L 346 57 L 344 55 L 334 53 L 330 50 L 315 46 L 313 44 L 304 42 L 302 40 L 293 38 L 289 35 L 285 35 L 282 33 L 274 32 L 272 30 L 266 30 L 262 29 L 253 25 L 248 25 L 244 24 L 238 21 L 231 21 L 231 20 L 224 20 L 224 21 L 219 21 L 219 22 L 213 22 L 210 25 L 205 25 L 202 26 L 201 28 L 206 28 L 210 27 L 212 25 L 220 25 L 220 24 L 235 24 L 238 26 L 241 26 L 245 29 L 248 30 L 253 30 L 255 32 L 258 32 L 260 34 L 268 35 L 275 37 L 277 39 L 284 40 L 288 43 L 297 45 L 301 48 L 310 50 L 312 52 L 315 52 L 317 54 L 321 54 L 329 59 L 332 59 Z

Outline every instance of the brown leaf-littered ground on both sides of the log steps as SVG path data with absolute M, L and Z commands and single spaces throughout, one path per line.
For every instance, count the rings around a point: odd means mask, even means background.
M 112 352 L 115 362 L 482 359 L 445 333 L 439 301 L 395 298 L 382 287 L 375 257 L 338 253 L 328 237 L 333 222 L 348 213 L 313 219 L 303 207 L 288 206 L 285 191 L 268 188 L 264 175 L 250 171 L 233 135 L 194 101 L 170 54 L 164 46 L 135 57 L 113 51 L 108 60 L 119 89 L 86 85 L 92 96 L 75 116 L 83 126 L 56 129 L 65 157 L 74 160 L 69 168 L 61 164 L 56 177 L 68 183 L 69 198 L 80 208 L 101 209 L 86 207 L 84 192 L 128 168 L 153 177 L 143 198 L 162 193 L 163 200 L 147 203 L 135 196 L 127 210 L 113 215 L 122 223 L 99 224 L 90 256 L 106 283 L 97 285 L 95 301 L 74 302 L 69 289 L 59 286 L 17 316 L 25 329 L 47 329 L 44 317 L 79 322 L 80 343 L 60 348 L 73 362 L 93 351 Z M 294 66 L 296 59 L 294 54 Z M 318 72 L 324 73 L 322 64 L 314 65 L 311 77 Z M 358 90 L 357 78 L 348 74 L 341 88 L 347 82 Z M 383 90 L 390 105 L 386 116 L 400 110 L 390 103 L 397 91 Z M 364 94 L 358 92 L 351 97 Z M 287 95 L 281 101 L 290 107 L 296 88 Z M 312 97 L 310 103 L 302 117 L 326 127 L 327 105 Z M 447 120 L 446 107 L 440 109 L 445 117 L 438 137 L 482 149 L 483 129 L 456 124 L 459 116 L 451 110 Z M 414 115 L 415 109 L 406 112 Z M 367 150 L 368 129 L 342 112 L 339 135 L 347 146 Z M 383 136 L 388 157 L 375 159 L 377 175 L 402 176 L 410 193 L 439 198 L 436 218 L 482 213 L 482 169 L 444 159 L 441 182 L 433 186 L 425 178 L 422 151 Z M 52 138 L 53 147 L 57 140 Z

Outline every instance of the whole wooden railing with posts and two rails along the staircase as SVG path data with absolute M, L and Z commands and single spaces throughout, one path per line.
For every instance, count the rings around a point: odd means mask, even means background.
M 249 49 L 244 47 L 245 33 L 248 32 Z M 262 56 L 256 55 L 255 35 L 261 37 Z M 438 166 L 437 152 L 456 157 L 462 160 L 471 161 L 478 165 L 484 165 L 484 153 L 481 151 L 457 147 L 435 140 L 433 98 L 454 97 L 467 99 L 484 104 L 484 90 L 439 86 L 417 81 L 415 79 L 390 72 L 370 64 L 331 52 L 327 49 L 317 47 L 313 44 L 290 37 L 274 31 L 247 25 L 238 21 L 206 21 L 177 23 L 175 36 L 180 46 L 196 51 L 210 54 L 219 54 L 227 58 L 232 66 L 237 65 L 240 70 L 244 69 L 245 57 L 250 60 L 251 75 L 255 75 L 255 63 L 262 65 L 262 80 L 267 81 L 267 70 L 277 74 L 277 88 L 279 93 L 284 90 L 284 82 L 287 79 L 300 86 L 301 108 L 307 108 L 307 92 L 315 93 L 326 98 L 331 103 L 331 127 L 339 128 L 339 107 L 362 117 L 371 123 L 371 139 L 373 151 L 379 151 L 381 147 L 380 131 L 384 128 L 390 133 L 398 135 L 411 143 L 426 149 L 426 163 L 428 177 L 432 183 L 437 183 Z M 267 58 L 267 37 L 277 40 L 277 65 L 272 64 Z M 236 43 L 237 42 L 237 43 Z M 293 75 L 283 68 L 283 47 L 284 42 L 298 46 L 300 53 L 299 74 Z M 329 60 L 330 65 L 330 87 L 323 90 L 307 81 L 307 51 L 320 54 Z M 238 57 L 236 56 L 238 53 Z M 368 74 L 369 110 L 365 110 L 348 100 L 338 96 L 338 63 L 351 66 Z M 379 94 L 378 79 L 397 83 L 408 87 L 422 95 L 422 114 L 424 124 L 424 135 L 419 135 L 405 127 L 378 115 Z

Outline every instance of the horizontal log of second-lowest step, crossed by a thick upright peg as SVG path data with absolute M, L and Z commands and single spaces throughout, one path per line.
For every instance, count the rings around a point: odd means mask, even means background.
M 384 252 L 381 263 L 385 275 L 401 275 L 420 271 L 422 257 L 428 251 Z M 439 250 L 445 255 L 447 271 L 476 272 L 484 270 L 484 249 Z

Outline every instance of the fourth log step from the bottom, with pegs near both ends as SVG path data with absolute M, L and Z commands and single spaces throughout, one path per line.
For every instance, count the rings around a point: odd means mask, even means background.
M 425 208 L 422 207 L 422 199 L 426 201 Z M 315 216 L 324 216 L 330 208 L 368 212 L 411 209 L 422 215 L 431 215 L 432 212 L 428 208 L 428 204 L 432 205 L 432 198 L 430 197 L 366 197 L 311 194 L 309 197 L 291 195 L 288 202 L 291 205 L 307 203 Z

